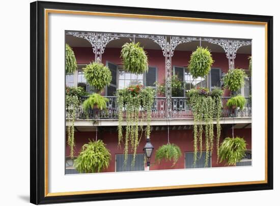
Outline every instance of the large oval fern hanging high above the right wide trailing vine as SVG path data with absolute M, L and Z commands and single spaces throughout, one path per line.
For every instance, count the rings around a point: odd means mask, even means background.
M 190 74 L 194 78 L 205 77 L 209 74 L 213 62 L 210 50 L 198 47 L 190 56 L 188 64 Z

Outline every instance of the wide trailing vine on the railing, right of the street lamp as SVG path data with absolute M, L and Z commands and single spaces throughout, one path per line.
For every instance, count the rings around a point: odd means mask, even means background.
M 220 123 L 221 115 L 221 95 L 222 91 L 214 89 L 209 92 L 207 88 L 191 89 L 187 92 L 189 102 L 193 113 L 193 164 L 197 161 L 198 142 L 200 157 L 203 150 L 203 134 L 205 134 L 205 149 L 206 158 L 205 166 L 208 164 L 209 155 L 214 147 L 214 124 L 213 119 L 216 119 L 216 147 L 219 148 L 220 139 Z M 204 122 L 203 122 L 204 121 Z

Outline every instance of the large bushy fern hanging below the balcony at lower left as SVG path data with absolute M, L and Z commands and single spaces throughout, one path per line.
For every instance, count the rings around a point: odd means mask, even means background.
M 74 166 L 79 173 L 99 173 L 108 168 L 111 154 L 101 141 L 90 141 L 82 146 Z

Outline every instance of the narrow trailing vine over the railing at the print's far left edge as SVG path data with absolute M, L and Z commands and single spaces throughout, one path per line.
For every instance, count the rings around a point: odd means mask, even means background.
M 75 140 L 74 140 L 74 122 L 76 119 L 76 113 L 80 105 L 80 100 L 78 96 L 76 95 L 69 95 L 66 94 L 65 97 L 65 107 L 66 107 L 66 113 L 68 114 L 68 121 L 71 124 L 70 126 L 67 126 L 67 144 L 70 147 L 70 157 L 74 158 L 74 146 L 75 146 Z

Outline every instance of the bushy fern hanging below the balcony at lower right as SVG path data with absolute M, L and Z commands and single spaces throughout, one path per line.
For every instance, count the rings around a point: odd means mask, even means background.
M 245 156 L 246 141 L 243 138 L 226 138 L 219 147 L 220 162 L 226 161 L 228 165 L 236 165 Z

